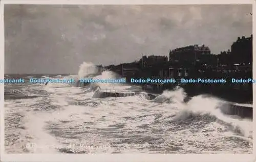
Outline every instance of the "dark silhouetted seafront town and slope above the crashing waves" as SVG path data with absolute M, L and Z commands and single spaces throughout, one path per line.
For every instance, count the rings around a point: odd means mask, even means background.
M 130 78 L 252 78 L 252 35 L 247 38 L 238 37 L 231 44 L 231 50 L 221 51 L 218 55 L 212 54 L 210 46 L 204 44 L 170 49 L 168 54 L 169 59 L 167 56 L 142 56 L 139 61 L 102 68 L 126 77 L 127 81 Z M 238 93 L 245 100 L 252 100 L 252 85 L 248 83 L 191 86 L 192 84 L 182 85 L 178 82 L 177 85 L 192 94 L 217 93 L 235 99 L 233 93 Z M 162 93 L 177 85 L 145 84 L 143 88 Z

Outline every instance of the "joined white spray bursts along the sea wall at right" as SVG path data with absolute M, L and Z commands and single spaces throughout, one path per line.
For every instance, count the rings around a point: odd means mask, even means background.
M 173 91 L 166 90 L 157 96 L 153 102 L 169 103 L 180 110 L 175 114 L 172 122 L 190 120 L 217 122 L 228 130 L 245 138 L 252 138 L 252 122 L 247 119 L 239 119 L 223 113 L 223 109 L 230 104 L 217 97 L 210 95 L 198 95 L 191 97 L 188 102 L 184 102 L 186 93 L 180 87 Z M 170 108 L 172 108 L 170 107 Z

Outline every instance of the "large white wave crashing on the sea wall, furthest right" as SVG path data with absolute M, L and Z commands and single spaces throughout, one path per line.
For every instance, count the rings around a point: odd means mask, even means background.
M 240 136 L 252 138 L 252 122 L 224 115 L 221 111 L 222 106 L 226 106 L 226 104 L 216 97 L 198 95 L 186 103 L 184 109 L 175 116 L 173 121 L 201 116 L 204 120 L 216 121 Z

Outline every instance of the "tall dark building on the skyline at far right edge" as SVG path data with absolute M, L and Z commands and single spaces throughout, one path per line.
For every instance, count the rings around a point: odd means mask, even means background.
M 252 64 L 252 35 L 248 38 L 238 37 L 231 45 L 231 55 L 234 64 Z

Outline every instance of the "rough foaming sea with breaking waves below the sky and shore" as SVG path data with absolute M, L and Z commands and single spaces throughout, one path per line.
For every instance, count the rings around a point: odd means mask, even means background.
M 151 99 L 138 85 L 28 82 L 78 80 L 96 68 L 84 62 L 74 75 L 5 75 L 25 79 L 5 84 L 6 153 L 252 153 L 252 119 L 223 114 L 226 101 L 216 96 L 185 102 L 180 87 Z M 117 77 L 112 71 L 94 76 Z M 136 94 L 97 98 L 95 87 Z

